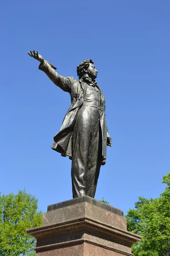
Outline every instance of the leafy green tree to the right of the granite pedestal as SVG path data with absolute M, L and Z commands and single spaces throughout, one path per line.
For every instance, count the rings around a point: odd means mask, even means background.
M 162 180 L 167 186 L 159 198 L 139 197 L 125 216 L 127 230 L 142 236 L 133 244 L 134 256 L 170 256 L 170 173 Z

